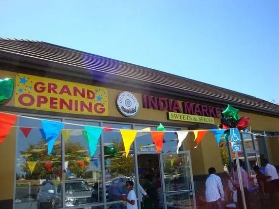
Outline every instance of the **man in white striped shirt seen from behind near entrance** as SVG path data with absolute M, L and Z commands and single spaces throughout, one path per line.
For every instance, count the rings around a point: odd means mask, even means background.
M 205 182 L 205 198 L 208 209 L 222 209 L 225 200 L 225 194 L 221 178 L 216 175 L 216 169 L 208 169 L 210 176 Z

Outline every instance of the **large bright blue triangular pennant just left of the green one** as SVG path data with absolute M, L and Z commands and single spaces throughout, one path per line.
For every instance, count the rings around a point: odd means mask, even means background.
M 45 137 L 48 142 L 48 154 L 50 154 L 55 140 L 64 126 L 64 123 L 49 120 L 41 120 L 41 122 L 43 126 L 43 132 L 45 133 Z

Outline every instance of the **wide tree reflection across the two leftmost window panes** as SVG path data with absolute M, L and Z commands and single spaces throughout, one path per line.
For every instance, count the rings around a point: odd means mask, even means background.
M 34 149 L 42 150 L 39 152 L 35 152 Z M 71 173 L 75 173 L 77 176 L 82 176 L 85 171 L 88 169 L 88 162 L 85 161 L 85 166 L 82 167 L 77 162 L 78 157 L 87 157 L 86 153 L 76 153 L 76 151 L 82 150 L 84 147 L 79 142 L 67 142 L 65 144 L 65 154 L 71 153 L 71 156 L 65 156 L 65 161 L 69 161 L 68 168 Z M 33 173 L 30 173 L 27 163 L 22 164 L 21 171 L 26 172 L 25 179 L 48 179 L 61 177 L 61 144 L 57 144 L 54 146 L 52 153 L 55 154 L 47 154 L 47 145 L 46 141 L 43 139 L 40 140 L 39 143 L 29 143 L 28 147 L 23 150 L 25 154 L 26 161 L 36 161 L 36 166 L 33 170 Z M 52 171 L 48 171 L 45 162 L 53 162 L 51 168 Z M 54 174 L 54 175 L 53 175 Z

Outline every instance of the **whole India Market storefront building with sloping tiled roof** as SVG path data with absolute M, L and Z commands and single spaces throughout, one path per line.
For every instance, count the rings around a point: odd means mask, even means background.
M 248 173 L 260 157 L 279 166 L 279 106 L 255 97 L 29 40 L 0 39 L 0 78 L 15 80 L 13 97 L 0 112 L 20 115 L 0 144 L 3 208 L 52 208 L 47 202 L 55 208 L 119 208 L 119 185 L 131 179 L 138 194 L 146 175 L 156 176 L 158 208 L 198 208 L 208 168 L 222 174 L 234 154 L 229 142 L 218 146 L 211 132 L 197 147 L 189 133 L 177 154 L 173 131 L 216 129 L 228 104 L 250 117 L 251 132 L 261 134 L 241 133 L 239 157 Z M 36 118 L 64 122 L 71 130 L 67 140 L 58 137 L 51 154 Z M 169 131 L 162 151 L 156 152 L 150 133 L 138 132 L 127 158 L 120 132 L 111 130 L 156 130 L 159 123 Z M 106 127 L 93 157 L 82 126 Z

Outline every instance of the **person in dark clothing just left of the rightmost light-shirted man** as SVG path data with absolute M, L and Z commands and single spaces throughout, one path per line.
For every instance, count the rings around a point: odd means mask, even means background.
M 254 165 L 253 170 L 256 173 L 256 178 L 259 185 L 261 209 L 266 209 L 268 208 L 268 203 L 269 203 L 266 178 L 261 173 L 261 170 L 258 165 Z

